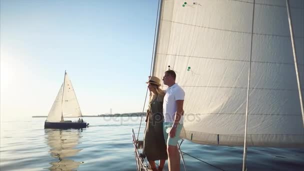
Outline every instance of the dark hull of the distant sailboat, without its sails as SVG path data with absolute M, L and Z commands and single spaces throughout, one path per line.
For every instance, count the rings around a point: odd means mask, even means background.
M 85 128 L 88 124 L 86 122 L 44 122 L 44 128 L 52 129 L 68 129 L 68 128 Z

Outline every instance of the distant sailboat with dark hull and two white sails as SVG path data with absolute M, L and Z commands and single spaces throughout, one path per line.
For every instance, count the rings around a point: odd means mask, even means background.
M 83 121 L 64 120 L 66 117 L 82 117 L 82 114 L 72 83 L 64 71 L 63 83 L 44 122 L 44 128 L 84 128 L 88 125 Z

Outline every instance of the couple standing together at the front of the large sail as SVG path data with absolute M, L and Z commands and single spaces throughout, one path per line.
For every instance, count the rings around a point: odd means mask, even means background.
M 149 77 L 149 107 L 146 116 L 143 152 L 147 156 L 151 169 L 156 169 L 155 160 L 160 160 L 158 170 L 162 170 L 168 158 L 169 170 L 179 170 L 180 157 L 177 148 L 180 130 L 183 123 L 184 91 L 175 83 L 176 74 L 173 70 L 164 72 L 163 83 L 168 88 L 159 88 L 160 79 Z

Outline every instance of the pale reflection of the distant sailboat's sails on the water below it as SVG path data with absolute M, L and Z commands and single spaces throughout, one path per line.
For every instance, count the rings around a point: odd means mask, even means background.
M 76 149 L 82 130 L 45 129 L 45 137 L 50 147 L 50 155 L 58 161 L 50 162 L 49 170 L 75 170 L 82 162 L 67 157 L 76 155 L 81 149 Z

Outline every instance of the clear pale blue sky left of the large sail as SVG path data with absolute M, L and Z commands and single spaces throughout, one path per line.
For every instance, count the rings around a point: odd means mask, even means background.
M 47 115 L 66 69 L 83 114 L 142 111 L 157 0 L 1 0 L 1 120 Z

